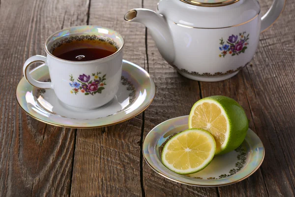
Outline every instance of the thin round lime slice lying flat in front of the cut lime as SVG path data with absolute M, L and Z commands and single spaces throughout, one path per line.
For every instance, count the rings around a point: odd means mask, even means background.
M 178 174 L 191 174 L 204 169 L 212 161 L 215 150 L 215 141 L 209 132 L 189 129 L 165 144 L 162 163 Z

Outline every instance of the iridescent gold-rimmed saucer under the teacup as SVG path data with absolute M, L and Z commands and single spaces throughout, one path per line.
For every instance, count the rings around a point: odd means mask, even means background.
M 36 70 L 38 69 L 38 70 Z M 31 70 L 38 81 L 50 81 L 48 67 L 41 65 Z M 31 117 L 66 128 L 98 128 L 118 124 L 144 111 L 153 101 L 156 88 L 148 72 L 123 60 L 118 93 L 109 103 L 92 110 L 65 106 L 52 89 L 38 89 L 23 77 L 16 89 L 16 99 Z

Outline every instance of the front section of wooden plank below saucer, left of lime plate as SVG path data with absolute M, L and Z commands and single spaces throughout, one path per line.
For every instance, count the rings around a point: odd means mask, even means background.
M 140 115 L 102 129 L 78 130 L 71 195 L 142 196 Z

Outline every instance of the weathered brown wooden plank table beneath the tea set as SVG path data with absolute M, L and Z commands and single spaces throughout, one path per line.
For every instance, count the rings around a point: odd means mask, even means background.
M 0 196 L 295 196 L 295 0 L 261 34 L 252 66 L 205 83 L 186 79 L 160 56 L 150 33 L 126 23 L 131 8 L 155 10 L 158 0 L 0 0 Z M 265 13 L 271 0 L 262 2 Z M 157 86 L 149 108 L 121 124 L 64 129 L 27 116 L 15 89 L 22 66 L 45 55 L 43 42 L 62 28 L 98 24 L 125 38 L 124 59 L 146 69 Z M 190 93 L 190 94 L 188 94 Z M 219 188 L 181 185 L 145 163 L 142 142 L 153 127 L 187 115 L 200 98 L 236 99 L 262 139 L 266 157 L 249 178 Z

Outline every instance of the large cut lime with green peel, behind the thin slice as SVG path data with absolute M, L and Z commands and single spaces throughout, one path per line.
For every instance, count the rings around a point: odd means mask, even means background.
M 196 102 L 189 114 L 188 127 L 209 131 L 216 142 L 216 153 L 235 150 L 245 139 L 248 119 L 244 109 L 234 100 L 212 96 Z

